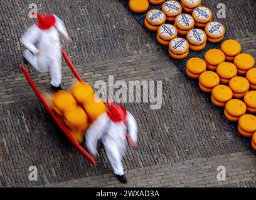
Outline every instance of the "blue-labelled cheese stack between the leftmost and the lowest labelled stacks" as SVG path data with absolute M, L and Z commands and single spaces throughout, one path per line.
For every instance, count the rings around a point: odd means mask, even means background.
M 175 26 L 163 24 L 157 31 L 156 39 L 163 46 L 168 46 L 171 39 L 175 38 L 177 34 L 178 32 Z

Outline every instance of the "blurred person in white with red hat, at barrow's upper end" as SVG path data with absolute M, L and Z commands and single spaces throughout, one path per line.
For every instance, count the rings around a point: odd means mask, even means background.
M 60 34 L 70 42 L 67 29 L 56 15 L 37 14 L 37 21 L 24 33 L 21 42 L 27 48 L 24 58 L 40 73 L 50 69 L 51 87 L 60 90 L 61 43 Z

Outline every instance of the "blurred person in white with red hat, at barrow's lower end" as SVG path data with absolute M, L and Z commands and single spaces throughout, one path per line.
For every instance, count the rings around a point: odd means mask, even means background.
M 122 165 L 127 140 L 137 147 L 137 123 L 132 114 L 120 105 L 109 104 L 107 112 L 90 126 L 85 139 L 93 156 L 97 156 L 97 144 L 102 141 L 115 175 L 121 183 L 127 183 Z

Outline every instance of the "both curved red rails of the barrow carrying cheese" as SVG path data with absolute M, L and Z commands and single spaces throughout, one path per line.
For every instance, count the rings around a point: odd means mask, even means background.
M 77 73 L 77 71 L 75 70 L 75 67 L 73 66 L 72 62 L 70 61 L 70 59 L 68 58 L 67 54 L 65 53 L 65 51 L 61 50 L 61 53 L 63 55 L 63 57 L 65 58 L 65 61 L 67 62 L 68 66 L 70 67 L 72 73 L 75 75 L 75 77 L 78 79 L 78 81 L 83 82 L 82 78 L 79 76 L 79 74 Z M 77 141 L 73 138 L 73 136 L 70 134 L 70 132 L 65 128 L 65 126 L 63 126 L 63 124 L 60 122 L 60 119 L 58 119 L 58 117 L 56 116 L 56 114 L 50 109 L 50 107 L 48 106 L 48 104 L 46 103 L 45 99 L 43 98 L 43 96 L 41 95 L 40 91 L 38 90 L 38 88 L 36 87 L 36 84 L 34 83 L 33 79 L 31 78 L 31 76 L 29 75 L 28 71 L 26 70 L 26 68 L 24 68 L 24 66 L 22 66 L 21 64 L 19 65 L 19 67 L 21 68 L 24 76 L 26 77 L 26 79 L 28 80 L 28 83 L 31 85 L 32 89 L 35 91 L 36 96 L 38 96 L 38 99 L 41 101 L 41 103 L 43 104 L 43 106 L 45 106 L 46 111 L 48 111 L 48 113 L 51 115 L 51 117 L 54 119 L 55 123 L 58 125 L 58 127 L 61 129 L 61 131 L 65 134 L 65 136 L 70 140 L 70 142 L 73 144 L 73 146 L 75 146 L 75 148 L 90 162 L 93 164 L 93 166 L 96 166 L 96 162 L 93 159 L 92 156 L 90 156 L 90 154 L 88 154 L 87 151 L 85 151 L 85 149 L 82 148 L 82 146 L 80 146 L 80 144 L 77 143 Z

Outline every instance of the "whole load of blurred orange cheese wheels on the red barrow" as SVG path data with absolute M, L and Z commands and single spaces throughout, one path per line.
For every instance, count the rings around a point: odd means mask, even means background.
M 94 98 L 93 89 L 87 83 L 73 84 L 71 93 L 62 90 L 56 92 L 52 108 L 78 143 L 82 143 L 90 124 L 106 111 L 105 104 Z

